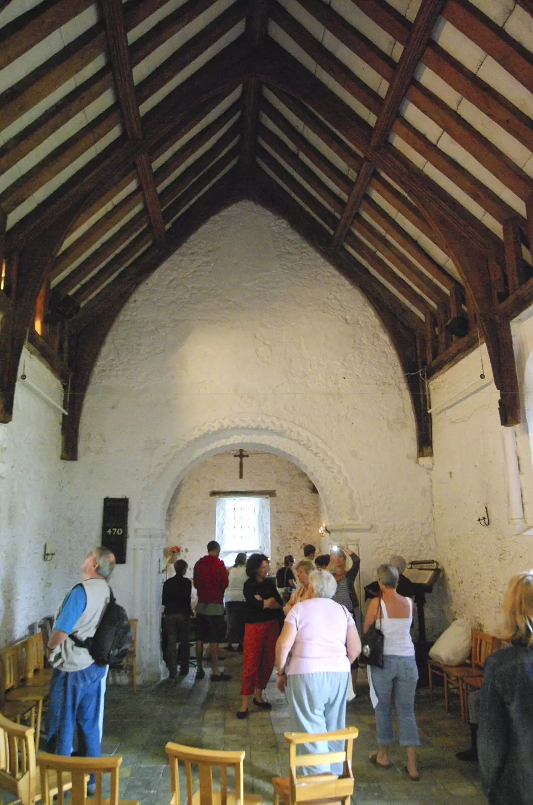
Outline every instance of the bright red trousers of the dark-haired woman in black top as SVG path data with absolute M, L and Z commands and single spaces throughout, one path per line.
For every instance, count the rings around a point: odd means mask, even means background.
M 275 644 L 279 625 L 275 621 L 247 623 L 242 655 L 242 696 L 250 696 L 256 688 L 262 691 L 271 678 L 275 663 Z

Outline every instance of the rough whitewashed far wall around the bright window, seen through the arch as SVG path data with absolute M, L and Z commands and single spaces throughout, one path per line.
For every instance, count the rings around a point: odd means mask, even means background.
M 320 502 L 308 476 L 272 453 L 251 451 L 243 463 L 244 478 L 240 479 L 233 451 L 212 456 L 192 469 L 172 496 L 167 544 L 180 546 L 180 558 L 188 562 L 190 571 L 205 555 L 209 540 L 215 539 L 217 498 L 209 497 L 213 490 L 275 490 L 275 497 L 270 499 L 272 572 L 283 564 L 283 556 L 291 553 L 300 559 L 304 544 L 320 543 Z

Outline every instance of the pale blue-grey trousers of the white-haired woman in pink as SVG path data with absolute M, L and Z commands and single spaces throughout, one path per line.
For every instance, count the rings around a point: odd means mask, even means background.
M 287 701 L 291 730 L 295 733 L 333 733 L 346 726 L 348 671 L 324 671 L 319 674 L 289 674 Z M 344 741 L 317 741 L 301 744 L 298 754 L 341 752 Z M 342 773 L 341 763 L 300 766 L 298 774 Z

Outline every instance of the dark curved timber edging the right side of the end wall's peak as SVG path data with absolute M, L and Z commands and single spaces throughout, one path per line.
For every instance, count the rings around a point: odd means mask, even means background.
M 431 415 L 428 414 L 425 395 L 420 394 L 419 375 L 416 374 L 420 369 L 417 343 L 420 337 L 424 338 L 424 334 L 417 324 L 417 317 L 409 312 L 382 283 L 374 279 L 370 272 L 345 249 L 333 255 L 329 248 L 331 240 L 328 233 L 318 229 L 312 217 L 305 213 L 292 196 L 283 190 L 275 180 L 266 175 L 264 171 L 256 171 L 256 173 L 254 197 L 259 204 L 285 218 L 314 250 L 336 267 L 350 283 L 359 287 L 374 308 L 390 336 L 406 377 L 415 415 L 418 455 L 432 456 Z

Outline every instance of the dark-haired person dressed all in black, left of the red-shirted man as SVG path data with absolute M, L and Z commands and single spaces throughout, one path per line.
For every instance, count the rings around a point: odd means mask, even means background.
M 180 676 L 188 674 L 188 633 L 191 625 L 191 592 L 192 582 L 185 578 L 188 564 L 184 559 L 174 563 L 176 576 L 167 579 L 163 584 L 162 609 L 167 631 L 167 667 L 170 679 L 178 675 L 178 659 L 180 660 Z M 176 643 L 179 643 L 176 652 Z

